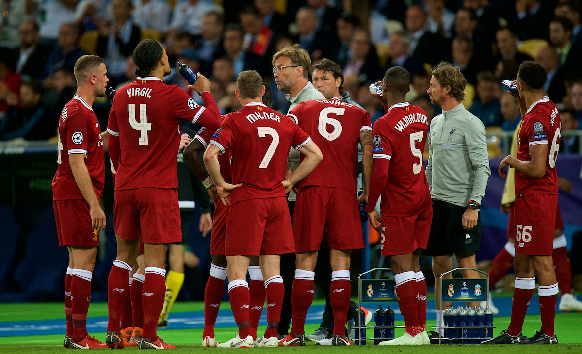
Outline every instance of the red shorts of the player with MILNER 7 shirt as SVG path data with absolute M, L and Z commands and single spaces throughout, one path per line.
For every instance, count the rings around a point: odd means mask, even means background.
M 225 256 L 260 256 L 295 252 L 285 197 L 249 199 L 230 205 Z

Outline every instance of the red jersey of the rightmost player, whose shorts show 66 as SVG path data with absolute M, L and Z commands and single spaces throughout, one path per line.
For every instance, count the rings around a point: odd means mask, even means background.
M 544 177 L 540 179 L 515 171 L 516 196 L 558 194 L 558 173 L 555 167 L 562 136 L 561 126 L 558 108 L 549 97 L 542 98 L 527 109 L 519 129 L 517 158 L 521 161 L 531 161 L 530 146 L 536 144 L 548 145 L 548 157 Z

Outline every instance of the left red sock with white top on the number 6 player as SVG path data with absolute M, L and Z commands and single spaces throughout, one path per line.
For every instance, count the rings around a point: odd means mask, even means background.
M 293 280 L 293 290 L 291 292 L 291 307 L 293 309 L 293 321 L 289 334 L 305 333 L 305 317 L 307 310 L 313 302 L 315 292 L 315 272 L 303 269 L 295 270 L 295 279 Z

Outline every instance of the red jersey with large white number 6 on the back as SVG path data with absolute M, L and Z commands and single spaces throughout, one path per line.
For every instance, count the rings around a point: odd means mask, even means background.
M 372 130 L 370 114 L 339 98 L 332 98 L 301 102 L 289 116 L 311 136 L 324 155 L 299 187 L 337 187 L 356 194 L 358 141 L 362 130 Z

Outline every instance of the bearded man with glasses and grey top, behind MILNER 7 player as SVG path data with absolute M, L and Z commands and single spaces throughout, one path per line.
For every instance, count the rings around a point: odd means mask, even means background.
M 291 102 L 289 111 L 303 101 L 325 100 L 325 96 L 318 91 L 309 81 L 311 70 L 311 58 L 305 49 L 301 49 L 299 44 L 287 45 L 276 52 L 272 59 L 273 76 L 279 90 L 285 92 L 285 98 Z M 299 153 L 291 149 L 288 158 L 288 169 L 295 171 L 299 166 Z M 295 206 L 296 194 L 289 192 L 289 214 L 293 221 L 293 210 Z M 279 338 L 287 335 L 289 323 L 292 317 L 291 291 L 293 279 L 295 277 L 295 254 L 288 253 L 281 255 L 281 276 L 285 284 L 285 298 L 283 299 L 283 309 L 281 320 L 279 321 Z

